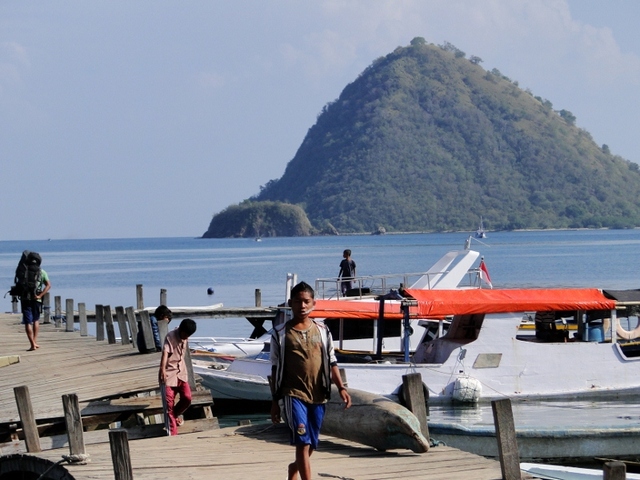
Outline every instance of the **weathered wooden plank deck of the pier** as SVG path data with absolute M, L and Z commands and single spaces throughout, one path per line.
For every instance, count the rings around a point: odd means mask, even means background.
M 131 344 L 108 344 L 106 340 L 81 336 L 77 331 L 66 331 L 64 326 L 56 328 L 55 324 L 41 325 L 40 348 L 26 351 L 29 344 L 20 320 L 19 314 L 0 314 L 0 357 L 8 359 L 3 363 L 0 358 L 0 365 L 6 365 L 0 366 L 0 432 L 6 436 L 10 431 L 12 438 L 0 442 L 0 455 L 26 452 L 25 441 L 18 440 L 22 429 L 14 393 L 16 387 L 26 386 L 42 449 L 29 455 L 52 462 L 62 460 L 63 455 L 68 456 L 70 447 L 66 432 L 53 437 L 46 435 L 50 433 L 47 429 L 59 427 L 59 421 L 65 415 L 61 397 L 76 394 L 90 463 L 63 463 L 62 466 L 78 480 L 127 478 L 114 473 L 110 430 L 95 429 L 97 424 L 92 419 L 111 412 L 110 421 L 116 421 L 120 410 L 125 413 L 156 412 L 158 399 L 130 396 L 157 388 L 160 354 L 140 354 Z M 19 361 L 16 362 L 17 357 Z M 116 400 L 118 397 L 122 398 Z M 161 435 L 160 425 L 146 426 L 146 431 L 138 436 L 135 428 L 129 429 L 133 474 L 130 478 L 282 480 L 286 477 L 294 449 L 288 444 L 288 433 L 283 425 L 224 429 L 216 426 L 217 422 L 211 418 L 188 420 L 176 437 L 158 436 Z M 157 427 L 155 432 L 154 427 Z M 155 436 L 149 438 L 149 435 Z M 342 480 L 502 478 L 498 461 L 446 446 L 432 447 L 425 454 L 378 452 L 324 435 L 320 449 L 312 457 L 312 466 L 314 478 Z

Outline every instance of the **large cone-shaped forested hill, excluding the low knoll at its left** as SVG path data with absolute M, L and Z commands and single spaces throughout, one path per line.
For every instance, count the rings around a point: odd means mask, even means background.
M 421 38 L 377 59 L 251 200 L 318 231 L 640 226 L 637 164 L 481 63 Z

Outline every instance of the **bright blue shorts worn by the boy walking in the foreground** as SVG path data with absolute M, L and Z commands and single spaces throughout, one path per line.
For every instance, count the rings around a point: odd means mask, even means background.
M 284 418 L 291 432 L 291 445 L 311 445 L 312 449 L 318 449 L 324 411 L 324 403 L 306 403 L 285 395 Z

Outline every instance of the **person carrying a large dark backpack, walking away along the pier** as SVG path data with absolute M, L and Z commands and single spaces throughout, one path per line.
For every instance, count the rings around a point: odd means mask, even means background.
M 22 308 L 22 324 L 31 344 L 29 352 L 40 348 L 38 345 L 38 331 L 40 330 L 40 312 L 42 297 L 51 289 L 49 276 L 40 264 L 42 258 L 37 252 L 25 250 L 16 268 L 16 291 L 20 294 Z

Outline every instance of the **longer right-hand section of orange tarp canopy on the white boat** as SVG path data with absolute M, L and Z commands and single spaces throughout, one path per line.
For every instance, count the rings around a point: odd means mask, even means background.
M 612 310 L 615 300 L 596 288 L 407 290 L 418 301 L 412 316 L 571 310 Z

